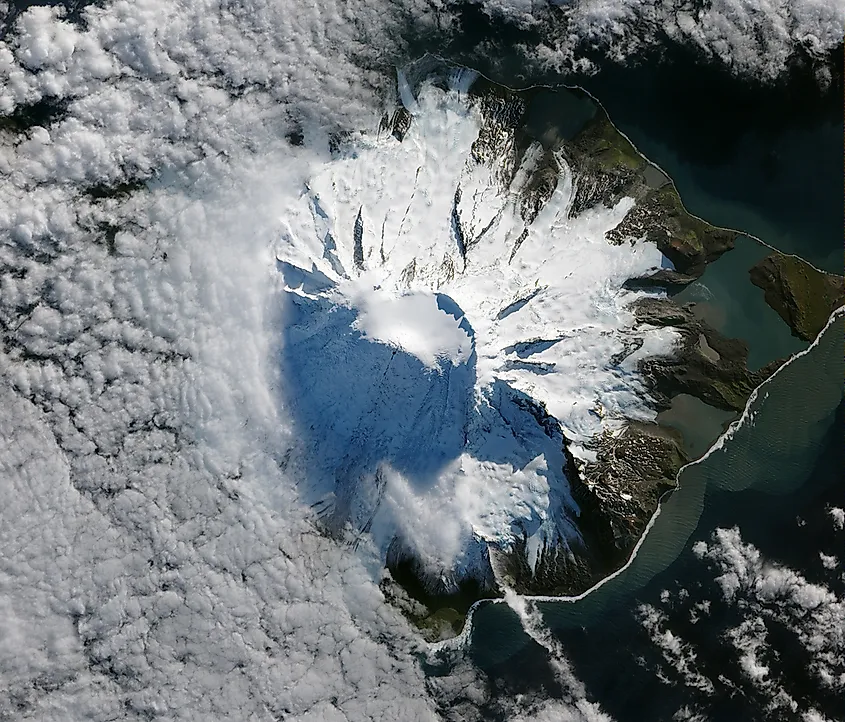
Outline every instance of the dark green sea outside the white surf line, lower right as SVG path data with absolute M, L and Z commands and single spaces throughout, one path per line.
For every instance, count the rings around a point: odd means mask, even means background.
M 677 596 L 680 590 L 689 595 L 686 610 L 699 599 L 718 598 L 713 573 L 692 552 L 696 542 L 707 541 L 717 528 L 739 527 L 744 541 L 805 575 L 812 572 L 805 566 L 818 566 L 818 537 L 830 528 L 825 509 L 845 502 L 843 333 L 845 320 L 840 318 L 811 353 L 764 387 L 768 393 L 753 405 L 753 423 L 741 427 L 706 461 L 682 472 L 680 490 L 664 503 L 639 554 L 622 574 L 579 602 L 539 605 L 588 694 L 616 720 L 669 720 L 693 702 L 704 719 L 781 718 L 772 717 L 765 697 L 753 690 L 732 694 L 731 685 L 741 687 L 744 681 L 737 659 L 725 644 L 702 644 L 702 639 L 719 639 L 736 623 L 735 610 L 714 612 L 694 630 L 694 638 L 701 638 L 696 652 L 701 673 L 726 679 L 716 684 L 714 694 L 703 695 L 671 676 L 664 681 L 667 671 L 660 669 L 658 650 L 639 621 L 639 609 L 643 604 L 665 606 L 666 596 Z M 676 617 L 670 613 L 669 629 L 689 633 L 689 620 L 680 612 Z M 525 636 L 505 605 L 477 610 L 471 653 L 476 664 L 508 689 L 531 689 L 540 681 L 553 693 L 541 663 L 545 650 Z M 786 673 L 780 683 L 787 690 L 809 686 L 808 704 L 829 719 L 843 719 L 842 700 L 812 680 L 793 677 Z

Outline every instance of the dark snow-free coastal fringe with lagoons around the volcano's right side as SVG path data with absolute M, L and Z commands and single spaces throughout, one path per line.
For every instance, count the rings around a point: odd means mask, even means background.
M 624 215 L 605 229 L 604 243 L 650 246 L 650 252 L 658 251 L 661 259 L 648 267 L 631 268 L 616 279 L 614 292 L 623 297 L 619 306 L 630 316 L 619 330 L 624 346 L 599 361 L 599 367 L 617 380 L 633 375 L 636 395 L 647 407 L 644 412 L 638 416 L 611 405 L 607 423 L 606 407 L 597 397 L 591 413 L 601 426 L 586 440 L 577 436 L 577 430 L 573 437 L 566 422 L 561 425 L 565 417 L 559 412 L 553 416 L 547 411 L 549 399 L 535 404 L 532 412 L 535 421 L 544 428 L 551 424 L 549 428 L 559 434 L 554 443 L 563 451 L 566 490 L 577 531 L 572 545 L 553 537 L 541 538 L 538 553 L 537 540 L 529 539 L 531 532 L 524 527 L 511 527 L 505 541 L 474 532 L 474 542 L 484 547 L 481 566 L 450 570 L 445 575 L 443 570 L 421 564 L 413 551 L 400 548 L 392 557 L 388 555 L 380 580 L 382 593 L 426 640 L 436 643 L 439 638 L 462 634 L 475 603 L 498 598 L 506 589 L 527 598 L 577 600 L 627 569 L 653 528 L 662 503 L 677 489 L 680 473 L 690 462 L 707 458 L 730 432 L 731 423 L 747 411 L 757 390 L 795 352 L 803 350 L 804 343 L 782 343 L 784 336 L 788 338 L 787 327 L 793 332 L 795 328 L 768 293 L 764 302 L 760 284 L 753 281 L 752 264 L 762 259 L 760 252 L 774 247 L 757 235 L 711 225 L 690 213 L 674 178 L 635 146 L 589 91 L 568 84 L 514 90 L 437 56 L 424 56 L 398 70 L 399 95 L 394 98 L 392 116 L 390 108 L 383 114 L 379 134 L 390 131 L 402 142 L 416 122 L 411 87 L 423 83 L 441 91 L 457 90 L 461 102 L 480 113 L 472 157 L 479 165 L 495 169 L 495 181 L 501 184 L 496 192 L 510 189 L 528 148 L 535 148 L 530 182 L 521 181 L 524 185 L 516 191 L 508 190 L 518 193 L 514 197 L 518 197 L 520 222 L 525 224 L 513 247 L 505 248 L 510 248 L 510 260 L 551 197 L 555 179 L 559 182 L 564 172 L 571 176 L 572 184 L 566 219 L 579 218 L 593 209 L 614 208 L 624 200 Z M 570 111 L 577 116 L 574 120 Z M 481 236 L 464 245 L 460 214 L 455 215 L 460 190 L 458 185 L 452 213 L 453 223 L 455 219 L 458 223 L 458 250 L 463 255 Z M 483 235 L 490 227 L 476 230 Z M 571 255 L 565 236 L 546 238 L 545 243 Z M 734 254 L 721 261 L 729 250 Z M 787 279 L 784 294 L 808 269 L 810 275 L 834 275 L 799 260 L 800 264 L 794 264 L 800 266 L 799 272 Z M 716 268 L 705 275 L 711 265 Z M 416 270 L 416 263 L 413 267 Z M 692 293 L 685 297 L 685 289 Z M 633 293 L 626 295 L 625 291 Z M 828 321 L 839 305 L 838 297 L 827 303 Z M 814 308 L 818 318 L 818 304 Z M 547 319 L 535 335 L 546 333 L 548 323 Z M 674 346 L 640 354 L 643 335 L 656 330 L 662 333 L 662 329 L 673 335 Z M 765 357 L 765 363 L 752 363 L 749 352 Z M 630 361 L 626 361 L 628 357 L 632 357 Z M 583 383 L 581 387 L 595 388 Z M 685 410 L 683 396 L 704 404 L 712 413 L 705 407 Z M 671 413 L 661 416 L 667 411 L 677 412 L 675 418 L 670 418 Z M 718 423 L 713 423 L 719 414 Z M 700 423 L 705 417 L 707 423 Z M 545 434 L 549 436 L 548 429 Z M 557 462 L 554 468 L 560 469 Z M 402 581 L 402 566 L 412 572 L 410 583 Z M 465 583 L 467 587 L 474 584 L 476 593 L 468 592 Z

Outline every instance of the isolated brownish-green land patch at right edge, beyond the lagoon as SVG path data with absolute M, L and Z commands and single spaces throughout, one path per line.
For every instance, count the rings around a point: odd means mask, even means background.
M 792 335 L 805 341 L 813 341 L 830 314 L 845 304 L 845 278 L 819 271 L 797 256 L 773 253 L 749 275 Z

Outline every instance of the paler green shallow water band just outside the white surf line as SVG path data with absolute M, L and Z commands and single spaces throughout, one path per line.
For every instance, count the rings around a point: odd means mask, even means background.
M 612 624 L 613 617 L 604 614 L 605 608 L 629 600 L 668 569 L 687 549 L 690 538 L 706 535 L 713 522 L 742 525 L 744 520 L 730 510 L 730 492 L 753 489 L 777 495 L 784 514 L 791 514 L 794 499 L 790 497 L 800 495 L 845 394 L 844 336 L 845 317 L 840 316 L 813 351 L 793 361 L 761 388 L 750 407 L 750 421 L 742 424 L 721 449 L 681 472 L 680 489 L 662 504 L 660 516 L 633 563 L 578 602 L 543 603 L 546 621 L 553 627 Z M 705 502 L 711 507 L 707 524 L 698 529 Z M 476 646 L 482 649 L 498 636 L 485 633 L 484 627 L 490 623 L 498 626 L 500 617 L 509 616 L 510 610 L 503 605 L 479 610 L 475 617 Z M 525 642 L 517 640 L 521 636 L 518 622 L 514 629 L 514 646 L 506 645 L 510 652 L 499 647 L 496 657 L 508 656 Z

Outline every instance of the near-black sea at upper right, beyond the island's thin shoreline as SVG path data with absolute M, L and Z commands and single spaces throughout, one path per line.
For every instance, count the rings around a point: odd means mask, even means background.
M 750 88 L 673 60 L 572 80 L 672 176 L 692 213 L 842 273 L 841 85 Z

